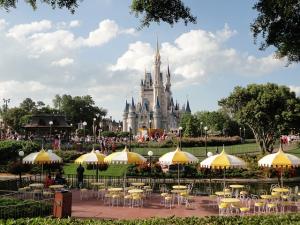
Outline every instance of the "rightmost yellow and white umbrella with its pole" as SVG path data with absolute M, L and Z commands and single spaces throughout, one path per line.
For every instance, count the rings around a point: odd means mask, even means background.
M 299 166 L 300 158 L 283 152 L 282 146 L 280 145 L 278 152 L 264 156 L 258 161 L 258 165 L 261 167 L 281 168 L 280 182 L 281 182 L 281 186 L 283 186 L 283 177 L 282 177 L 283 169 Z

